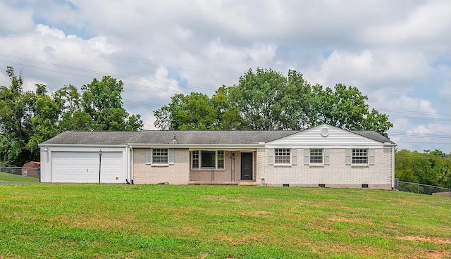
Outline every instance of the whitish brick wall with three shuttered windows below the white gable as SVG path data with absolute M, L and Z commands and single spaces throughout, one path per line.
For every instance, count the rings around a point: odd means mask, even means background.
M 353 167 L 345 164 L 345 149 L 329 149 L 330 165 L 304 165 L 304 149 L 297 149 L 297 165 L 268 165 L 268 149 L 257 151 L 257 184 L 318 187 L 362 187 L 391 189 L 391 149 L 374 149 L 374 165 Z M 264 180 L 262 180 L 264 178 Z

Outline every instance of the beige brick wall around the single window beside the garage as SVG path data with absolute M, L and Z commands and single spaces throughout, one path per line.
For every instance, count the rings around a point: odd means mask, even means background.
M 174 149 L 173 165 L 146 165 L 146 149 L 133 149 L 133 181 L 135 184 L 188 184 L 190 152 Z

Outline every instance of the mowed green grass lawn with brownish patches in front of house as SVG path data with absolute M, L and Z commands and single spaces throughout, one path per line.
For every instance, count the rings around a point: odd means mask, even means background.
M 450 258 L 451 198 L 371 189 L 0 186 L 0 258 Z

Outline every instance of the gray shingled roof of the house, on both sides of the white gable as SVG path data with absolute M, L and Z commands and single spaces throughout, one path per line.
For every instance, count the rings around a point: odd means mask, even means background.
M 175 135 L 177 144 L 259 144 L 287 137 L 299 130 L 271 131 L 183 131 L 183 130 L 142 130 L 139 132 L 75 132 L 58 134 L 46 144 L 84 144 L 84 145 L 127 145 L 127 144 L 170 144 Z M 352 131 L 363 137 L 385 143 L 395 142 L 383 137 L 378 132 Z

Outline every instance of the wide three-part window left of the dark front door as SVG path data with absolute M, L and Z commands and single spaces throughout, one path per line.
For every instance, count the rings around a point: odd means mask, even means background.
M 191 151 L 191 167 L 224 169 L 224 151 L 193 150 Z

